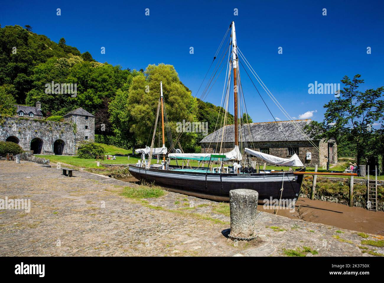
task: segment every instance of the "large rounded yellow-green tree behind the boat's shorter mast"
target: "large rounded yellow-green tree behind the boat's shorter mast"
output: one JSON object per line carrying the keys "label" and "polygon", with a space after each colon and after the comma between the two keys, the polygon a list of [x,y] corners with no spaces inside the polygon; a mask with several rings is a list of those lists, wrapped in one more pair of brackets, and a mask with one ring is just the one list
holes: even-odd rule
{"label": "large rounded yellow-green tree behind the boat's shorter mast", "polygon": [[[128,78],[132,78],[129,89],[125,86],[116,92],[109,109],[114,132],[118,135],[129,134],[132,146],[149,146],[151,143],[160,97],[160,81],[163,84],[166,117],[172,137],[178,135],[177,122],[183,119],[194,121],[197,113],[196,100],[180,82],[179,75],[172,65],[148,65],[144,74],[134,71]],[[180,144],[184,150],[194,150],[196,136],[196,133],[182,134]],[[166,145],[169,147],[170,143],[167,137]],[[156,136],[156,146],[158,144],[159,136]]]}

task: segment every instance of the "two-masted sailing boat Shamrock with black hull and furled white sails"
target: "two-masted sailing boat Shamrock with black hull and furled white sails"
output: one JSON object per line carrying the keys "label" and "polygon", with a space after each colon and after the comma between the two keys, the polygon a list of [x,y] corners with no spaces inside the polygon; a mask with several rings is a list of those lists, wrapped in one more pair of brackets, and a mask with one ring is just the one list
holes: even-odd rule
{"label": "two-masted sailing boat Shamrock with black hull and furled white sails", "polygon": [[[129,166],[129,172],[135,178],[139,180],[145,180],[147,182],[154,182],[161,186],[166,186],[170,191],[186,194],[189,196],[196,196],[199,198],[207,198],[215,201],[228,201],[229,191],[233,189],[252,189],[258,192],[259,202],[262,203],[265,200],[272,199],[289,199],[295,201],[300,193],[301,183],[303,181],[302,174],[295,174],[295,171],[273,171],[273,170],[249,170],[246,168],[243,162],[243,156],[239,148],[239,125],[240,118],[238,117],[238,82],[240,80],[238,70],[238,53],[235,23],[232,22],[227,30],[232,28],[231,33],[231,47],[232,54],[231,59],[228,60],[230,72],[233,74],[233,100],[234,100],[234,148],[232,151],[226,153],[182,153],[172,152],[168,153],[169,158],[174,159],[187,159],[202,161],[202,163],[208,161],[209,165],[217,163],[217,167],[208,166],[184,166],[170,165],[165,159],[165,153],[167,151],[164,143],[164,96],[162,94],[161,84],[161,96],[157,107],[157,118],[155,123],[155,130],[152,136],[151,147],[138,150],[138,153],[143,154],[144,162],[141,160],[136,165]],[[229,48],[229,46],[228,46]],[[229,58],[229,54],[228,54]],[[228,81],[230,81],[230,72],[228,72]],[[229,89],[229,88],[228,88]],[[228,90],[229,94],[229,90]],[[229,97],[229,95],[228,95]],[[162,141],[163,147],[154,148],[155,131],[157,127],[157,120],[159,117],[159,109],[162,112]],[[241,133],[240,133],[241,134]],[[284,166],[299,166],[296,171],[305,171],[302,162],[295,154],[290,159],[284,159],[269,154],[263,154],[262,152],[253,151],[245,147],[242,149],[244,154],[255,156],[257,158],[264,159],[268,162],[284,165]],[[155,154],[163,154],[162,164],[152,164],[151,157]],[[221,152],[221,148],[220,148]],[[145,160],[144,155],[148,154],[148,161]],[[231,166],[225,166],[225,162],[233,162]],[[183,162],[184,164],[184,162]],[[245,170],[248,169],[248,170]],[[251,168],[252,169],[252,168]]]}

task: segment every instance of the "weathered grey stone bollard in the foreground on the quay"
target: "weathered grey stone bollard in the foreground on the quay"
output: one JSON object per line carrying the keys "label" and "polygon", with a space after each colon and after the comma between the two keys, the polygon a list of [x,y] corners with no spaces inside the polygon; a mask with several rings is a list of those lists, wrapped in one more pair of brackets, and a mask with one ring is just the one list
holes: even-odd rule
{"label": "weathered grey stone bollard in the foreground on the quay", "polygon": [[256,238],[256,213],[259,194],[248,189],[229,191],[232,240],[250,241]]}

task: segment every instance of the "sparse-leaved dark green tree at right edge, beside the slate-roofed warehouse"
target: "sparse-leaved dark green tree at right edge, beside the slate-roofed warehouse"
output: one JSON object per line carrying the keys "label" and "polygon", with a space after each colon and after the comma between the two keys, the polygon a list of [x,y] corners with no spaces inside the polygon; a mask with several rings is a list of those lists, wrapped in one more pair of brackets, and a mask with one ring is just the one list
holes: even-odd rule
{"label": "sparse-leaved dark green tree at right edge, beside the slate-roofed warehouse", "polygon": [[383,117],[384,87],[359,90],[364,80],[357,74],[353,79],[344,76],[341,82],[345,85],[336,100],[324,105],[326,112],[324,121],[311,122],[307,130],[317,138],[329,139],[334,137],[338,143],[348,142],[356,151],[358,164],[363,164],[372,155],[372,139],[377,130],[372,124]]}

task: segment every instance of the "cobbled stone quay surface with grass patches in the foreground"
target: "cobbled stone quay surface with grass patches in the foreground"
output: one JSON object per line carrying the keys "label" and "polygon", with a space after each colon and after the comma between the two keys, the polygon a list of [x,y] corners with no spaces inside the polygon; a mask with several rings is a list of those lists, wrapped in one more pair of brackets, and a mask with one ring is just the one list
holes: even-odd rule
{"label": "cobbled stone quay surface with grass patches in the foreground", "polygon": [[225,237],[230,219],[219,203],[171,192],[138,201],[120,195],[135,184],[73,175],[0,161],[0,199],[31,201],[30,213],[0,210],[0,256],[285,256],[296,249],[306,256],[384,254],[384,248],[362,244],[354,231],[271,213],[257,219],[257,241],[237,245]]}

